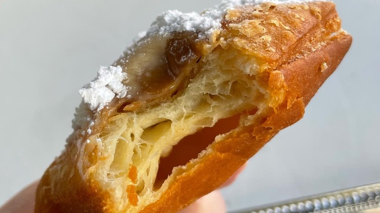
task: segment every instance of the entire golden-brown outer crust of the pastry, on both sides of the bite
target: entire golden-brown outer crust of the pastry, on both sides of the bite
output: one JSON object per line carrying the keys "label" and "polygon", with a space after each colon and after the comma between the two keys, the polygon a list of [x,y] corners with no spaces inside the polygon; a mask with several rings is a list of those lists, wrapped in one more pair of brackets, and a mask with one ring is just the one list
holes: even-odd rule
{"label": "entire golden-brown outer crust of the pastry, on both sides of the bite", "polygon": [[[273,110],[224,140],[213,142],[208,152],[187,164],[189,170],[179,168],[168,190],[143,213],[176,212],[223,184],[281,129],[303,117],[305,106],[335,71],[352,42],[350,35],[339,31],[340,19],[331,2],[241,8],[229,11],[223,26],[222,47],[230,45],[263,64],[257,78],[268,85]],[[98,159],[91,155],[91,148],[88,153],[82,150],[86,161],[80,159],[77,153],[82,147],[77,146],[77,139],[71,139],[42,177],[36,213],[116,212],[117,201],[109,192],[93,177],[83,179],[83,172],[78,171],[78,161]],[[133,167],[129,176],[135,178]],[[132,196],[130,200],[135,200]]]}

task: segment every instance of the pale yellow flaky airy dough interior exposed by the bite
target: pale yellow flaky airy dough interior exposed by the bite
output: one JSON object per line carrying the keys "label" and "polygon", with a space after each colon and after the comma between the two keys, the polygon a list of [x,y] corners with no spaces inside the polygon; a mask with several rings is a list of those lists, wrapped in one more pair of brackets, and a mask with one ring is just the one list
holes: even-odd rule
{"label": "pale yellow flaky airy dough interior exposed by the bite", "polygon": [[[108,120],[100,136],[90,138],[85,149],[96,146],[99,156],[109,156],[97,159],[95,176],[105,190],[114,191],[113,199],[121,202],[119,207],[127,204],[138,211],[167,190],[180,175],[179,169],[174,168],[166,180],[156,181],[160,158],[167,157],[181,139],[233,116],[240,117],[238,125],[245,125],[255,117],[249,111],[264,111],[268,94],[256,82],[259,65],[254,61],[232,47],[228,51],[218,47],[195,68],[201,69],[201,74],[179,97],[144,112],[119,113]],[[225,125],[237,127],[233,122]],[[215,142],[234,131],[227,129]],[[203,152],[207,149],[199,154]],[[181,168],[190,169],[186,165]]]}

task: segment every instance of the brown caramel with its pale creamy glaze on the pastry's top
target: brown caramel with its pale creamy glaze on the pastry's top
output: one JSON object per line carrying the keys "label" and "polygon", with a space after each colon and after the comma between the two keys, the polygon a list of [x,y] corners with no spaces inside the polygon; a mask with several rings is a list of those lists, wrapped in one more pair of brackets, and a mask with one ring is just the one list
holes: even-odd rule
{"label": "brown caramel with its pale creamy glaze on the pastry's top", "polygon": [[[128,95],[114,99],[101,111],[97,121],[108,119],[116,112],[142,112],[167,102],[185,89],[198,73],[202,53],[196,42],[196,32],[157,34],[143,38],[132,53],[121,56],[114,66],[128,73],[122,82],[129,87]],[[102,126],[95,124],[93,134]]]}

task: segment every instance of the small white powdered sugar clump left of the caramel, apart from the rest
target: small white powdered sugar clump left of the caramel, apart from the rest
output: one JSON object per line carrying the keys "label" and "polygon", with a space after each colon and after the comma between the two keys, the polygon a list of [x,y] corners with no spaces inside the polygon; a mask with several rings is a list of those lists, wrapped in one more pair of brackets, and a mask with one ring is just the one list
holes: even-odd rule
{"label": "small white powdered sugar clump left of the caramel, apart from the rest", "polygon": [[91,110],[100,111],[114,97],[123,98],[131,88],[122,84],[127,79],[127,73],[120,66],[100,67],[96,78],[85,88],[79,90],[84,103]]}

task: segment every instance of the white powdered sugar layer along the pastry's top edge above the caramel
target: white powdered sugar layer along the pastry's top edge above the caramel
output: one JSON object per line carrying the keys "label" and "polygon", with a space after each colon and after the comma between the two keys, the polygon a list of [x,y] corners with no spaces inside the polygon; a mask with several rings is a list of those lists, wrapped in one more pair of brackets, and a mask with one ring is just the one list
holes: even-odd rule
{"label": "white powdered sugar layer along the pastry's top edge above the caramel", "polygon": [[178,10],[170,10],[156,18],[148,30],[147,35],[152,35],[157,32],[197,31],[200,33],[200,38],[203,36],[211,38],[222,26],[220,22],[226,12],[236,6],[255,5],[264,2],[281,4],[304,3],[308,1],[314,0],[224,0],[222,4],[206,10],[202,14],[194,12],[182,13]]}

